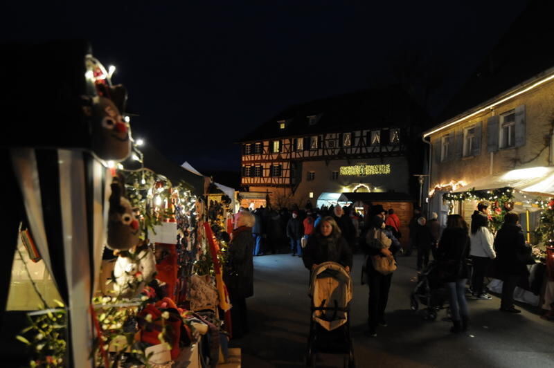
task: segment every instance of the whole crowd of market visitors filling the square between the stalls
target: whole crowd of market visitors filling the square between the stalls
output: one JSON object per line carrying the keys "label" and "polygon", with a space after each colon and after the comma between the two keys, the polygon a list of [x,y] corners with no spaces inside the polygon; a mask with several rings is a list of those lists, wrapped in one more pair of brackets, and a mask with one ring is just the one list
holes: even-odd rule
{"label": "whole crowd of market visitors filling the square between the stalls", "polygon": [[[467,330],[469,310],[466,302],[468,279],[470,293],[481,300],[490,300],[485,292],[484,279],[495,259],[497,273],[503,279],[501,311],[519,313],[514,306],[513,293],[518,279],[528,274],[524,234],[519,215],[508,212],[496,237],[488,229],[488,203],[481,202],[472,215],[471,225],[459,214],[447,217],[445,228],[438,216],[429,219],[415,208],[409,222],[409,246],[400,244],[401,223],[393,209],[382,205],[370,208],[367,218],[356,213],[352,206],[277,212],[260,207],[249,212],[241,208],[235,219],[231,241],[231,272],[229,294],[233,303],[233,326],[247,332],[245,298],[252,295],[253,256],[289,251],[303,258],[305,267],[314,270],[325,261],[341,264],[352,270],[352,255],[364,252],[363,279],[368,284],[368,330],[377,336],[377,327],[386,326],[386,305],[391,288],[397,255],[417,251],[418,272],[429,266],[430,255],[436,261],[440,282],[449,293],[453,333]],[[229,276],[228,276],[229,277]],[[234,279],[233,279],[234,277]],[[238,308],[235,309],[235,306]]]}

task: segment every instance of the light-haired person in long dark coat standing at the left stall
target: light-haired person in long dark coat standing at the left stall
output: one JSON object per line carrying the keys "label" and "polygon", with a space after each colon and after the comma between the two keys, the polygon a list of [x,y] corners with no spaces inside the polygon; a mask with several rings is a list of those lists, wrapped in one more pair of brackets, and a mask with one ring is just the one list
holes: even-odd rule
{"label": "light-haired person in long dark coat standing at the left stall", "polygon": [[240,212],[238,228],[233,230],[226,264],[225,284],[229,291],[233,338],[241,338],[248,332],[247,297],[254,295],[254,264],[252,251],[254,217],[250,212]]}

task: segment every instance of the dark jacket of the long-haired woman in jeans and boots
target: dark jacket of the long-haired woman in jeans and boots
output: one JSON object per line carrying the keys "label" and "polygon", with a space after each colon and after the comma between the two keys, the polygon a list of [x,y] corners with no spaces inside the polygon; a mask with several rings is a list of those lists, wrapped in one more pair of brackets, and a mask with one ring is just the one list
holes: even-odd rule
{"label": "dark jacket of the long-haired woman in jeans and boots", "polygon": [[459,228],[446,228],[438,242],[438,268],[455,270],[452,277],[445,277],[443,282],[456,282],[456,279],[467,279],[469,267],[465,261],[470,255],[470,237],[467,231]]}

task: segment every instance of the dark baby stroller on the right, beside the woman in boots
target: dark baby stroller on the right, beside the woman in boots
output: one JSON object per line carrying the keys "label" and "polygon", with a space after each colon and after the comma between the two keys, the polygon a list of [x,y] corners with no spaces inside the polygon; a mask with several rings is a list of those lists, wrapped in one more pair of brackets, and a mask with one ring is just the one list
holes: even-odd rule
{"label": "dark baby stroller on the right, beside the woman in boots", "polygon": [[447,307],[448,300],[448,291],[440,282],[437,264],[431,261],[418,275],[418,284],[410,295],[411,310],[417,311],[421,303],[427,306],[425,320],[436,320],[438,311]]}

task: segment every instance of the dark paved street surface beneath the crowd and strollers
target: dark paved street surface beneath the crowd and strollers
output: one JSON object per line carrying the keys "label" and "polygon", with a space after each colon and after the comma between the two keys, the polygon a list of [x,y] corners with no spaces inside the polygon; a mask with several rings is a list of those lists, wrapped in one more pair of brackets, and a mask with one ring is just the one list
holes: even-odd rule
{"label": "dark paved street surface beneath the crowd and strollers", "polygon": [[[389,295],[387,327],[377,338],[364,335],[368,286],[360,284],[362,255],[355,255],[350,317],[357,367],[554,367],[554,323],[528,304],[519,315],[498,311],[499,297],[469,300],[471,325],[449,333],[440,311],[434,322],[409,309],[415,286],[415,256],[399,257]],[[247,300],[250,333],[231,341],[242,347],[242,367],[302,367],[310,326],[308,271],[302,259],[254,257],[254,296]],[[336,356],[319,356],[318,367],[341,367]]]}

